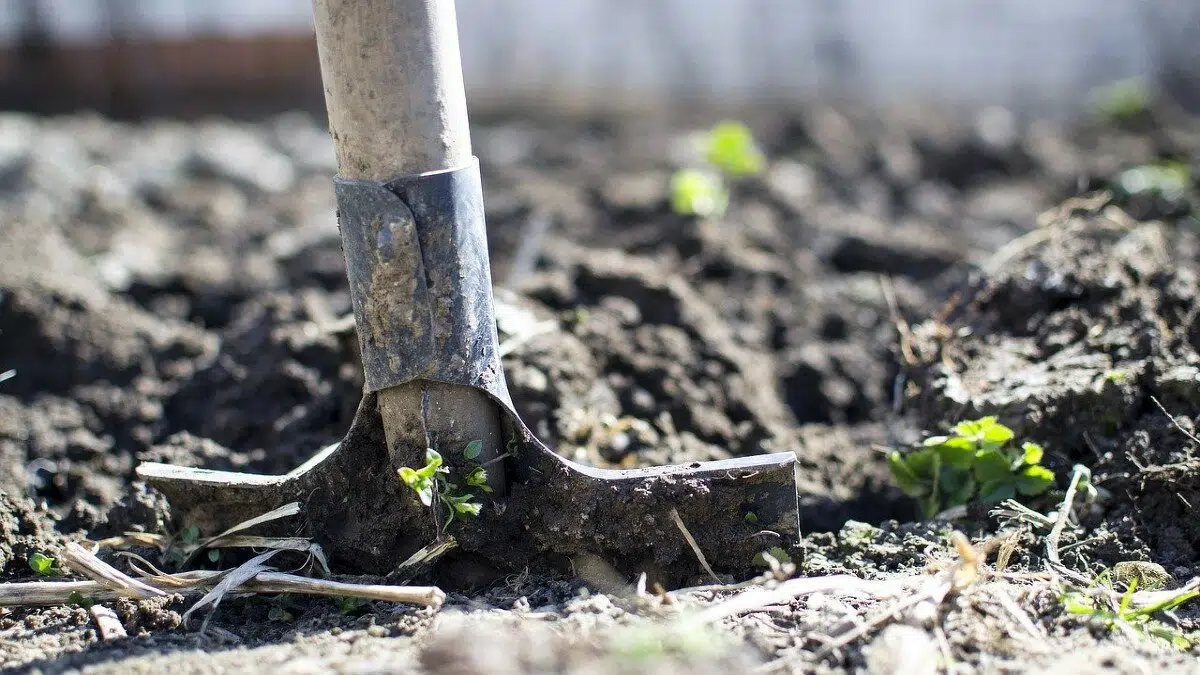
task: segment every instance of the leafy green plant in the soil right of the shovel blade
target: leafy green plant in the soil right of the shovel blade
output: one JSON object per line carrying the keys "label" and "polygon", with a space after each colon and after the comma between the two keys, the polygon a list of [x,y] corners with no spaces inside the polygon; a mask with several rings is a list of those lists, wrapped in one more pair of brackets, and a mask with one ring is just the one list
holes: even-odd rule
{"label": "leafy green plant in the soil right of the shovel blade", "polygon": [[1014,447],[1013,436],[995,417],[960,422],[949,436],[929,437],[908,453],[893,450],[888,465],[900,490],[918,500],[925,518],[977,497],[998,503],[1045,492],[1055,477],[1042,466],[1042,446]]}

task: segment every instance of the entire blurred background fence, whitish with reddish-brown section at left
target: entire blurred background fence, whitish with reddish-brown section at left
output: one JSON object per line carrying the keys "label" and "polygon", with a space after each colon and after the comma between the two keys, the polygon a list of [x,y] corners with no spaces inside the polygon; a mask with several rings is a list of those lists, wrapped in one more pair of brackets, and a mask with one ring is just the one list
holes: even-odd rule
{"label": "entire blurred background fence, whitish with reddish-brown section at left", "polygon": [[[458,0],[472,104],[1200,100],[1200,0]],[[0,0],[0,107],[319,109],[308,0]]]}

